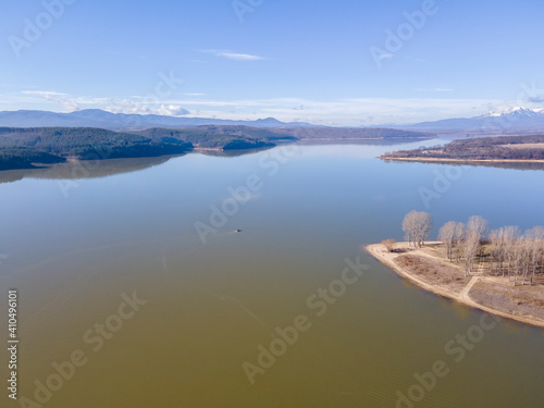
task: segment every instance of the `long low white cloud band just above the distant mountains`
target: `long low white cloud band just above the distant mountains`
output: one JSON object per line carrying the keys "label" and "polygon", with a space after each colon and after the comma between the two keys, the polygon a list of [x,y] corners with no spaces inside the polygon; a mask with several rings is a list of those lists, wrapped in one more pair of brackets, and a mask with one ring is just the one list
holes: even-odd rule
{"label": "long low white cloud band just above the distant mountains", "polygon": [[[18,97],[17,97],[18,95]],[[454,99],[440,94],[422,98],[345,98],[316,100],[305,98],[269,99],[212,99],[168,98],[152,103],[144,97],[99,98],[74,97],[55,91],[25,91],[12,95],[13,103],[32,109],[55,110],[50,103],[64,110],[103,109],[115,113],[161,114],[171,116],[199,116],[230,120],[257,120],[276,118],[284,122],[310,122],[321,125],[376,125],[384,123],[416,123],[447,118],[469,118],[487,113],[490,107],[500,104],[493,99]],[[422,94],[424,95],[424,94]],[[1,96],[1,95],[0,95]],[[440,96],[440,97],[438,97]],[[47,103],[44,101],[47,100]],[[0,101],[1,103],[1,101]],[[1,103],[3,106],[3,103]]]}

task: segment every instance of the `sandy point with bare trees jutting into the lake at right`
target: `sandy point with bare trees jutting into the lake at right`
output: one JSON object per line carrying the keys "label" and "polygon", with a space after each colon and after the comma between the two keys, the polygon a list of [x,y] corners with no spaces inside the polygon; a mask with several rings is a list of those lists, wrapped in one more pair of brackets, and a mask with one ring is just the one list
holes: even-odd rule
{"label": "sandy point with bare trees jutting into the lake at right", "polygon": [[446,223],[440,240],[425,242],[429,220],[412,211],[403,223],[407,242],[386,239],[366,249],[425,290],[544,327],[544,227],[526,234],[514,226],[487,231],[484,219],[472,217],[467,224]]}

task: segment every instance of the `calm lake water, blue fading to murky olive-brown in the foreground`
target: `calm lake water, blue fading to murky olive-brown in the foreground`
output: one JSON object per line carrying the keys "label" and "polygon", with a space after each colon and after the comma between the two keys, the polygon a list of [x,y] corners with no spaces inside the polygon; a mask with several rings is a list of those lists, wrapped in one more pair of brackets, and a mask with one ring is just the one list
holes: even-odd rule
{"label": "calm lake water, blue fading to murky olive-brown in the foreground", "polygon": [[[437,226],[472,214],[492,227],[544,225],[544,173],[374,159],[391,149],[3,172],[0,300],[5,310],[8,288],[18,289],[18,396],[60,408],[411,406],[401,393],[417,407],[542,407],[543,331],[502,320],[460,358],[446,345],[483,314],[407,284],[360,248],[401,239],[412,209]],[[455,180],[426,209],[419,190],[433,190],[436,172]],[[250,194],[233,205],[228,188],[248,177]],[[203,243],[195,223],[224,206]],[[358,257],[369,269],[318,307],[318,289]],[[147,302],[120,309],[134,292]],[[307,330],[282,348],[276,327],[299,316]],[[0,327],[7,337],[4,311]],[[271,342],[275,361],[248,375],[243,364],[255,369]],[[63,363],[74,351],[82,367],[72,370]],[[437,361],[447,374],[413,387]],[[2,407],[20,406],[3,393]]]}

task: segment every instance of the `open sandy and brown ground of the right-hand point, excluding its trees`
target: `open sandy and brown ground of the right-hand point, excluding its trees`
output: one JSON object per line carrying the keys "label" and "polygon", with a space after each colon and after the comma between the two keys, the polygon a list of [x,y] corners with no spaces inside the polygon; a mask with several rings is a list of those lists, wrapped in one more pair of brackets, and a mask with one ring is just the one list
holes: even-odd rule
{"label": "open sandy and brown ground of the right-hand point, excluding its trees", "polygon": [[[502,318],[544,327],[542,285],[514,287],[508,283],[508,279],[486,275],[484,271],[478,271],[466,277],[460,265],[449,262],[440,255],[440,248],[438,242],[426,243],[423,248],[410,247],[408,243],[397,243],[394,252],[387,251],[383,244],[366,247],[367,251],[384,265],[425,290]],[[423,271],[426,270],[426,274],[415,273],[406,267],[406,256],[410,257],[412,267],[413,262],[420,263],[416,268],[422,267]],[[401,261],[405,264],[401,264]],[[516,301],[517,295],[524,296],[523,301]]]}

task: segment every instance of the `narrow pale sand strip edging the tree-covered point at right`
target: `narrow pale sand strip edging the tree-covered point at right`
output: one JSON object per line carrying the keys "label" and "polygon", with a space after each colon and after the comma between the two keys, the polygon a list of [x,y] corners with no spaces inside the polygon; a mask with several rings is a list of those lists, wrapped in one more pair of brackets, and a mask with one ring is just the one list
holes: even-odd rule
{"label": "narrow pale sand strip edging the tree-covered point at right", "polygon": [[[435,243],[428,243],[428,244],[436,244],[436,242]],[[397,246],[408,247],[408,243],[397,243]],[[422,289],[425,289],[425,290],[433,293],[435,295],[455,300],[459,304],[469,306],[471,308],[480,309],[480,310],[485,311],[487,313],[498,316],[500,318],[506,318],[506,319],[515,320],[515,321],[520,322],[520,323],[530,324],[533,326],[544,329],[544,321],[543,320],[531,319],[531,318],[526,318],[526,317],[521,317],[521,316],[517,316],[517,314],[507,313],[507,312],[504,312],[502,310],[494,309],[492,307],[482,305],[482,304],[475,301],[474,299],[472,299],[472,297],[470,296],[470,290],[478,282],[484,281],[485,277],[482,277],[480,275],[472,275],[469,283],[463,287],[463,289],[459,294],[455,294],[452,290],[447,290],[444,287],[438,287],[438,286],[433,285],[429,282],[425,282],[424,280],[416,276],[413,273],[408,271],[406,268],[403,268],[401,265],[399,265],[398,262],[395,262],[395,258],[397,258],[399,255],[394,254],[394,252],[388,252],[382,244],[367,245],[367,246],[364,246],[364,249],[372,257],[374,257],[376,260],[379,260],[382,264],[384,264],[385,267],[390,268],[395,273],[397,273],[400,277],[404,277],[404,279],[410,281],[416,286],[418,286]],[[411,252],[411,255],[417,256],[417,257],[429,258],[429,259],[433,258],[434,261],[438,261],[437,258],[432,257],[428,254],[424,254],[423,251],[421,251],[420,249],[417,249],[417,248],[415,248],[415,250]],[[448,262],[442,262],[442,263],[448,264]]]}

